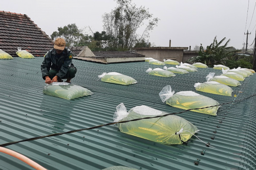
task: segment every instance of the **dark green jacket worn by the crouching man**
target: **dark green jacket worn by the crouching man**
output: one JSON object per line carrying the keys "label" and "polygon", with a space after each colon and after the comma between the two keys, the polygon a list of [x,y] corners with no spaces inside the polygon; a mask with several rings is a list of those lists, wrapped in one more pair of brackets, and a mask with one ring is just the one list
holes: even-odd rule
{"label": "dark green jacket worn by the crouching man", "polygon": [[46,76],[49,76],[49,70],[53,69],[58,71],[56,76],[60,79],[64,79],[67,75],[68,69],[74,67],[72,63],[73,54],[69,48],[65,47],[61,56],[56,57],[56,50],[53,48],[45,55],[45,60],[41,64],[42,78],[45,80]]}

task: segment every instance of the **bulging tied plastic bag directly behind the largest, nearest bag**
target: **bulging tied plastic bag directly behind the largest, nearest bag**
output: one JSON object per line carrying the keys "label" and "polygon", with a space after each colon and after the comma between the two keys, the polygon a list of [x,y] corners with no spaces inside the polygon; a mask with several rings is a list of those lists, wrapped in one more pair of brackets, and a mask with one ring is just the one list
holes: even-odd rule
{"label": "bulging tied plastic bag directly behind the largest, nearest bag", "polygon": [[170,85],[167,85],[159,93],[159,96],[162,102],[165,102],[167,105],[184,110],[214,106],[191,111],[210,115],[217,115],[217,111],[220,106],[216,106],[219,105],[219,103],[216,100],[198,94],[194,91],[180,91],[176,94],[174,93],[175,91],[172,91]]}

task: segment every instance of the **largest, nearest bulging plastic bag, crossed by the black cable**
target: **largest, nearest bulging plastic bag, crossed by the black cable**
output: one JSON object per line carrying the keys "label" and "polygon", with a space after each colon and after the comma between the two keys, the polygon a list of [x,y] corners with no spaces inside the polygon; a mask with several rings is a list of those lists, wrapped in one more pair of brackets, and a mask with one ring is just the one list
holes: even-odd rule
{"label": "largest, nearest bulging plastic bag, crossed by the black cable", "polygon": [[[114,122],[167,114],[144,105],[136,106],[127,112],[123,103],[118,105],[116,110]],[[182,144],[199,131],[195,125],[176,115],[141,119],[120,123],[117,126],[122,133],[162,144]]]}

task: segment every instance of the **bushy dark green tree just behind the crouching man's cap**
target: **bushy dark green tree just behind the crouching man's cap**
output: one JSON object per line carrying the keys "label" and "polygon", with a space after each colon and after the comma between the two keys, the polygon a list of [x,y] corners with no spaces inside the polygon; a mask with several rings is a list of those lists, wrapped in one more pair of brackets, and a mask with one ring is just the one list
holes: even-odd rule
{"label": "bushy dark green tree just behind the crouching man's cap", "polygon": [[64,38],[66,46],[84,46],[90,44],[90,37],[82,33],[83,30],[79,30],[75,23],[68,26],[58,27],[58,31],[54,31],[51,35],[52,40],[57,37]]}

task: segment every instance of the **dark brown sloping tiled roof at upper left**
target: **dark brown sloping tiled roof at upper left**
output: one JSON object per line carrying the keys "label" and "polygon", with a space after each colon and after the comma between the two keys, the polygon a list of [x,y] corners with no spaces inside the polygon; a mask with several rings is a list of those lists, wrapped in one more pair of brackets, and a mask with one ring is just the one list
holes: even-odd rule
{"label": "dark brown sloping tiled roof at upper left", "polygon": [[0,49],[17,57],[17,47],[41,57],[53,42],[26,14],[0,11]]}

